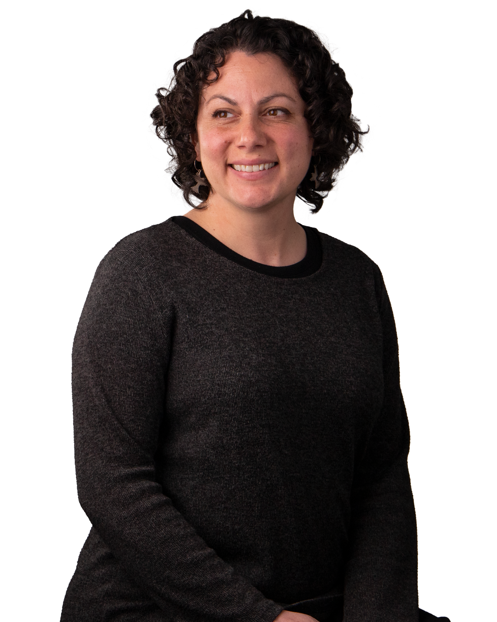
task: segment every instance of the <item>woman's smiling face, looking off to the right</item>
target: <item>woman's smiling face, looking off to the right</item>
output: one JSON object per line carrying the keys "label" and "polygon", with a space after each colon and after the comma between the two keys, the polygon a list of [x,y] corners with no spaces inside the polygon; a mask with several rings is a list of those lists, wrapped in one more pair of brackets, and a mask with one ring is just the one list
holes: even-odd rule
{"label": "woman's smiling face, looking off to the right", "polygon": [[232,52],[219,73],[203,90],[193,136],[212,199],[250,210],[293,205],[313,142],[296,81],[273,54]]}

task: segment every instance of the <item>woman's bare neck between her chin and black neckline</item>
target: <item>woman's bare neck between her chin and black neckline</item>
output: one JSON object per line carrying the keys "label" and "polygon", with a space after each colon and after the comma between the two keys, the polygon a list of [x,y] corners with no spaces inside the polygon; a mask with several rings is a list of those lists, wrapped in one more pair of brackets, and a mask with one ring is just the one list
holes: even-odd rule
{"label": "woman's bare neck between her chin and black neckline", "polygon": [[222,244],[267,266],[290,266],[304,259],[306,233],[293,215],[294,197],[271,207],[243,208],[211,200],[203,210],[189,210],[190,218]]}

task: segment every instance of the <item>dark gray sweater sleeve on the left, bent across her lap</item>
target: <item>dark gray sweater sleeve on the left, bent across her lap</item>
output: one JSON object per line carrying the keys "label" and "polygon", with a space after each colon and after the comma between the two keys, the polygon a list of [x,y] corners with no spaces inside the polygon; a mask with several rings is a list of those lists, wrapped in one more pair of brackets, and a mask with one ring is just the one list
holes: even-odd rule
{"label": "dark gray sweater sleeve on the left, bent across her lap", "polygon": [[174,308],[157,302],[122,246],[98,267],[73,346],[80,503],[165,620],[271,622],[282,607],[224,562],[157,483]]}

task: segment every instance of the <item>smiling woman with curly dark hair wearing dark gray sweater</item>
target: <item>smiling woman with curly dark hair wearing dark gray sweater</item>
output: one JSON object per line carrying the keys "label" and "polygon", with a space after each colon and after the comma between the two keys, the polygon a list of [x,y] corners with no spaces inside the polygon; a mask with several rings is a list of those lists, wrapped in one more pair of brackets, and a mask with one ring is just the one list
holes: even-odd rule
{"label": "smiling woman with curly dark hair wearing dark gray sweater", "polygon": [[352,90],[311,30],[250,11],[174,70],[152,119],[192,209],[117,244],[81,314],[93,529],[62,620],[417,621],[385,284],[293,216],[361,148]]}

